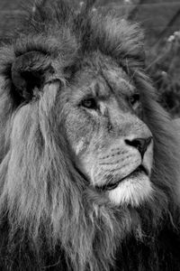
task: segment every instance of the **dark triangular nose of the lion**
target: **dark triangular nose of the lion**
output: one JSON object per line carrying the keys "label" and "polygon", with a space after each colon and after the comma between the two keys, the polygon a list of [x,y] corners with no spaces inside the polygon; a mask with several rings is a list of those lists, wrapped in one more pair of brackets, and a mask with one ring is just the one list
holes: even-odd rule
{"label": "dark triangular nose of the lion", "polygon": [[143,156],[146,153],[148,149],[148,145],[150,144],[151,140],[152,140],[152,136],[149,136],[147,138],[134,138],[132,140],[125,139],[125,143],[127,145],[131,145],[137,148],[143,159]]}

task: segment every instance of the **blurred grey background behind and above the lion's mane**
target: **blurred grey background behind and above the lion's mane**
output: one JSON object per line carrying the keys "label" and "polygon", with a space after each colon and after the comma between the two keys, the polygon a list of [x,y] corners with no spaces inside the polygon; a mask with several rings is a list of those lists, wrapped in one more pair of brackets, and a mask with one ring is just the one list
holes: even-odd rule
{"label": "blurred grey background behind and above the lion's mane", "polygon": [[[52,1],[52,0],[49,0]],[[69,0],[78,8],[83,1]],[[25,0],[0,0],[0,43],[23,15]],[[97,0],[97,9],[139,22],[145,31],[147,71],[157,89],[158,101],[172,117],[180,117],[180,0]]]}

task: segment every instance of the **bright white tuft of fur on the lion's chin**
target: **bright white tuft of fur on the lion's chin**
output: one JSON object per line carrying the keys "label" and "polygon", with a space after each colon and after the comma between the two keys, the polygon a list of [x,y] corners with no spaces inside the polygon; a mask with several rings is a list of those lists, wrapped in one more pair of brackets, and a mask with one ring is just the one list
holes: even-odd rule
{"label": "bright white tuft of fur on the lion's chin", "polygon": [[131,177],[120,182],[118,187],[108,192],[108,196],[115,205],[130,204],[135,207],[148,200],[152,191],[148,176],[141,173],[138,178]]}

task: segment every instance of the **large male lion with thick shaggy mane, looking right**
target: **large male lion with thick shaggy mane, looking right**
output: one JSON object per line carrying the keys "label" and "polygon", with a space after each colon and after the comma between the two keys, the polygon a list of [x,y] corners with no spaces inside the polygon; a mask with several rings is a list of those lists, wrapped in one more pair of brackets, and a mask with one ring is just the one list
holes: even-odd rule
{"label": "large male lion with thick shaggy mane, looking right", "polygon": [[180,144],[139,24],[43,4],[0,51],[0,269],[180,270]]}

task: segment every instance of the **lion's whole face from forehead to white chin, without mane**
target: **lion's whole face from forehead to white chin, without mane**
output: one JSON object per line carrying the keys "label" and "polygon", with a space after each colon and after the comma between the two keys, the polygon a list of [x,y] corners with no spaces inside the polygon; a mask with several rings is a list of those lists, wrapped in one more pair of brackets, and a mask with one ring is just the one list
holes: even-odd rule
{"label": "lion's whole face from forehead to white chin, without mane", "polygon": [[114,204],[139,205],[151,192],[153,140],[139,89],[110,59],[85,61],[67,93],[67,140],[76,167]]}

